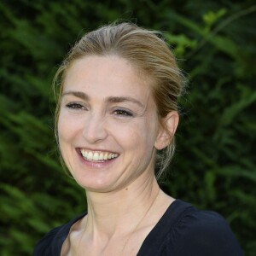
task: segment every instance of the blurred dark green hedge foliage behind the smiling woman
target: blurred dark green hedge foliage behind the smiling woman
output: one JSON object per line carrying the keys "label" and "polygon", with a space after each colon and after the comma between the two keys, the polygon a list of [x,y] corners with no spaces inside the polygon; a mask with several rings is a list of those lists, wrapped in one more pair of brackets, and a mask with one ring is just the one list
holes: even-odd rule
{"label": "blurred dark green hedge foliage behind the smiling woman", "polygon": [[0,254],[32,255],[46,232],[86,210],[63,172],[51,81],[84,32],[131,20],[164,32],[188,77],[177,152],[161,187],[221,213],[256,252],[255,1],[0,2]]}

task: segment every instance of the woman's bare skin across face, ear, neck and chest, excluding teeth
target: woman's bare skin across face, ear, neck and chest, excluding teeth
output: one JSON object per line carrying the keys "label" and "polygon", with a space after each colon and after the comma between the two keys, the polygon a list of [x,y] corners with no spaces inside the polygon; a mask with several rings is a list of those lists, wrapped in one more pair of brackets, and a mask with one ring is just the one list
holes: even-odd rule
{"label": "woman's bare skin across face, ear, neck and chest, excluding teeth", "polygon": [[[59,143],[68,169],[86,191],[88,215],[73,225],[61,255],[135,255],[172,203],[159,193],[154,154],[170,143],[178,115],[169,113],[168,131],[163,129],[150,82],[116,55],[84,57],[67,71]],[[117,157],[86,160],[81,149]]]}

